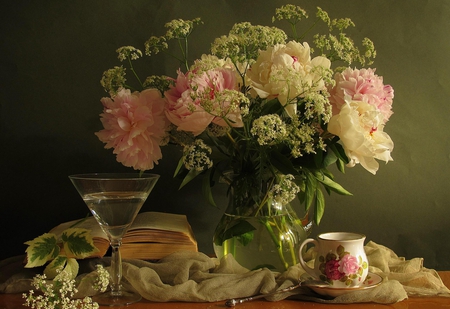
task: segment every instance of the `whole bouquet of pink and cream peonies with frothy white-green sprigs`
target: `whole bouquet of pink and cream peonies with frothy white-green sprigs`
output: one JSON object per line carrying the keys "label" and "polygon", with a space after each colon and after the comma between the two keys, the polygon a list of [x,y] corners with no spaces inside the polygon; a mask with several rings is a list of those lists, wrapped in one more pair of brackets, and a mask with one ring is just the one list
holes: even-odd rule
{"label": "whole bouquet of pink and cream peonies with frothy white-green sprigs", "polygon": [[[350,195],[334,181],[328,167],[361,164],[375,174],[377,160],[391,161],[393,142],[384,132],[392,114],[394,92],[371,65],[371,40],[361,44],[347,35],[348,18],[331,19],[317,8],[312,25],[305,10],[278,8],[272,22],[285,21],[291,36],[278,27],[235,24],[216,38],[208,54],[188,58],[188,38],[202,22],[173,20],[165,35],[145,42],[148,56],[180,47],[172,54],[180,69],[172,77],[142,79],[134,63],[143,57],[132,46],[117,50],[137,86],[126,79],[124,65],[104,72],[101,84],[109,97],[97,132],[117,161],[135,170],[152,169],[161,147],[183,147],[176,169],[181,186],[204,176],[203,192],[214,203],[211,186],[225,179],[233,188],[240,214],[267,212],[267,202],[287,203],[298,197],[314,205],[318,224],[324,212],[323,192]],[[328,31],[305,36],[318,23]]]}

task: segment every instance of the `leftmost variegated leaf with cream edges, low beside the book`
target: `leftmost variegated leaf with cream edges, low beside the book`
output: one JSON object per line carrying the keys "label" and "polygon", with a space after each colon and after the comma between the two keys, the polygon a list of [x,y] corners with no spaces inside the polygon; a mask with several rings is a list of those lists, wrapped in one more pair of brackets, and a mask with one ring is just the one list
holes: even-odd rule
{"label": "leftmost variegated leaf with cream edges, low beside the book", "polygon": [[28,245],[25,251],[27,253],[27,264],[25,267],[27,268],[42,266],[59,254],[55,234],[45,233],[33,240],[27,241],[25,244]]}

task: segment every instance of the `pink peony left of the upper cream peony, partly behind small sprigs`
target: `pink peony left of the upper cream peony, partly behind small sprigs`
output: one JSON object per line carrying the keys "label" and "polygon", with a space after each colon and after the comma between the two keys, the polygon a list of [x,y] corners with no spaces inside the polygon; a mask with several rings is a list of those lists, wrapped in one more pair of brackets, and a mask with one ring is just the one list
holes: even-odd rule
{"label": "pink peony left of the upper cream peony, partly behind small sprigs", "polygon": [[[178,71],[175,86],[165,92],[167,118],[178,130],[201,134],[209,124],[226,126],[219,115],[226,115],[233,126],[242,126],[238,111],[229,111],[229,102],[215,102],[224,90],[236,88],[235,74],[230,69],[212,69],[202,73]],[[203,104],[210,110],[206,111]]]}

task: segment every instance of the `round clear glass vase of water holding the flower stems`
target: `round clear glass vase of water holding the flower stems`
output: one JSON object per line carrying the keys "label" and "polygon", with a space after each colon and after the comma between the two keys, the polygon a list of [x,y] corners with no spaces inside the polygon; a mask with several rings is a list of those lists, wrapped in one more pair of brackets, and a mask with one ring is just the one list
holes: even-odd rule
{"label": "round clear glass vase of water holding the flower stems", "polygon": [[[230,187],[228,207],[214,232],[216,256],[232,254],[249,270],[267,267],[283,272],[296,265],[298,249],[308,235],[304,228],[307,222],[302,223],[290,203],[261,197],[267,202],[259,205],[258,211],[244,207],[250,196],[251,200],[255,197],[254,192],[242,192],[243,187]],[[261,194],[266,195],[267,191],[261,190]]]}

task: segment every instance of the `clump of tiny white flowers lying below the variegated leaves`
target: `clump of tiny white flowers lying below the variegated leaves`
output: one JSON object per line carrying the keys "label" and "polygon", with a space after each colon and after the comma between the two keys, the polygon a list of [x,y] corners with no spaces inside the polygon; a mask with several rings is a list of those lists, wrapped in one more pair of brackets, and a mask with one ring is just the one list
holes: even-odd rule
{"label": "clump of tiny white flowers lying below the variegated leaves", "polygon": [[25,306],[35,309],[98,309],[99,305],[93,302],[90,297],[83,299],[73,299],[77,289],[75,280],[70,274],[62,271],[58,274],[58,279],[53,282],[47,281],[45,275],[36,275],[32,285],[37,291],[43,294],[35,295],[33,290],[29,294],[23,294]]}

